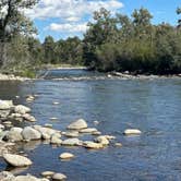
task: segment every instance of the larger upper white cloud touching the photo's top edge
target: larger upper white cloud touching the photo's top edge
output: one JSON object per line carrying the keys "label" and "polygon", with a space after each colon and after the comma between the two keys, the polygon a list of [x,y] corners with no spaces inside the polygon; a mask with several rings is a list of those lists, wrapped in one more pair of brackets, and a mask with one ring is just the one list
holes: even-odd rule
{"label": "larger upper white cloud touching the photo's top edge", "polygon": [[119,0],[40,0],[33,9],[25,13],[32,19],[58,17],[64,21],[79,21],[83,15],[106,8],[116,11],[123,7]]}

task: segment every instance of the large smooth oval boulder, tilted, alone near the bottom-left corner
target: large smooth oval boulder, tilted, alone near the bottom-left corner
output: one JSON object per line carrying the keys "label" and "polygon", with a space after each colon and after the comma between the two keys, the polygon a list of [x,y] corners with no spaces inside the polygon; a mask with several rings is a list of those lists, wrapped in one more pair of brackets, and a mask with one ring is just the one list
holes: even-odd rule
{"label": "large smooth oval boulder, tilted, alone near the bottom-left corner", "polygon": [[13,167],[26,167],[33,164],[28,158],[13,154],[3,154],[3,159]]}

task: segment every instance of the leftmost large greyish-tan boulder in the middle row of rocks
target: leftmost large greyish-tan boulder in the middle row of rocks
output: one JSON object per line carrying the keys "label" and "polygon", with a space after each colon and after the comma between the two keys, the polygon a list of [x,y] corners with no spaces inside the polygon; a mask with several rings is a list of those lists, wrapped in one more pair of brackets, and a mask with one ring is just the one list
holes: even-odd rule
{"label": "leftmost large greyish-tan boulder in the middle row of rocks", "polygon": [[13,141],[13,142],[21,142],[23,141],[23,136],[22,136],[22,130],[21,128],[12,128],[8,134],[4,136],[4,140],[8,141]]}

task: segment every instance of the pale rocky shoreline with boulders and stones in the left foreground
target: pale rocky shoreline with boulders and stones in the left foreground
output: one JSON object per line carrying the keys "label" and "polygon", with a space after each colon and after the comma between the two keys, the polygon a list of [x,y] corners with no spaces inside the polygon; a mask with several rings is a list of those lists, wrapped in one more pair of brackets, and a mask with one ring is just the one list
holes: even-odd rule
{"label": "pale rocky shoreline with boulders and stones in the left foreground", "polygon": [[[32,96],[34,97],[34,96]],[[29,96],[27,98],[31,98]],[[35,97],[34,97],[35,98]],[[27,100],[27,99],[26,99]],[[33,100],[33,99],[32,99]],[[24,168],[34,165],[27,158],[27,155],[16,150],[15,146],[19,143],[26,144],[32,141],[46,141],[52,146],[76,146],[86,149],[102,149],[110,145],[121,147],[122,144],[117,141],[113,135],[102,135],[96,128],[89,128],[84,119],[79,119],[69,124],[64,131],[55,130],[50,124],[35,124],[36,119],[31,114],[31,108],[23,105],[14,105],[12,100],[0,100],[0,157],[14,168]],[[31,125],[24,128],[14,126],[14,122],[28,121]],[[99,122],[94,122],[97,125]],[[92,135],[93,140],[82,141],[80,137]],[[125,130],[123,134],[140,135],[140,130]],[[72,149],[70,149],[72,152]],[[73,153],[60,153],[60,161],[63,159],[76,159]],[[14,176],[11,172],[0,172],[1,181],[48,181],[48,180],[65,180],[63,173],[53,172],[53,170],[45,170],[39,173],[41,178],[34,176]]]}

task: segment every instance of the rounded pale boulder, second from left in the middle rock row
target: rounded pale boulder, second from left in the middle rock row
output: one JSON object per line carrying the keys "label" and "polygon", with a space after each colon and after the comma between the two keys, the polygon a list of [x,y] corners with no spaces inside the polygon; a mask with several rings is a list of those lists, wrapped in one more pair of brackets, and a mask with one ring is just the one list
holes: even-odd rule
{"label": "rounded pale boulder, second from left in the middle rock row", "polygon": [[41,138],[40,132],[38,132],[37,130],[35,130],[31,126],[25,126],[22,132],[22,135],[23,135],[24,140],[29,140],[29,141]]}

